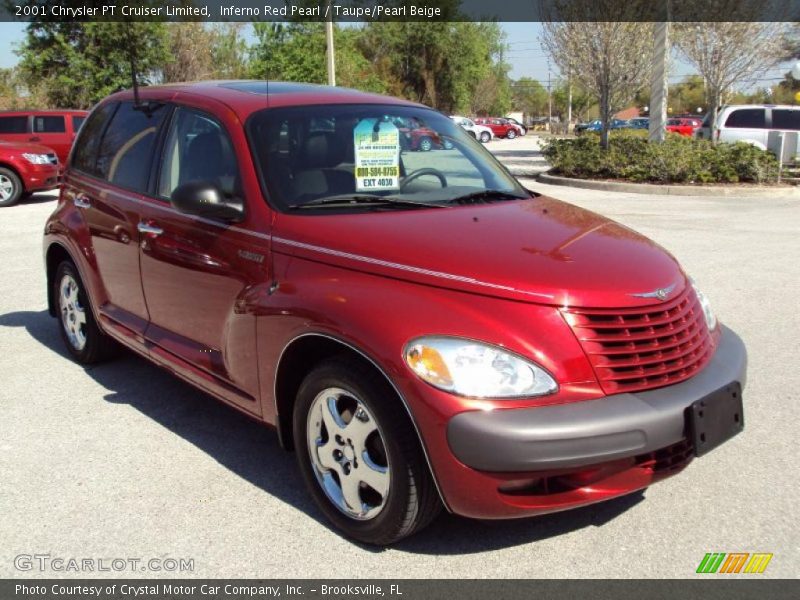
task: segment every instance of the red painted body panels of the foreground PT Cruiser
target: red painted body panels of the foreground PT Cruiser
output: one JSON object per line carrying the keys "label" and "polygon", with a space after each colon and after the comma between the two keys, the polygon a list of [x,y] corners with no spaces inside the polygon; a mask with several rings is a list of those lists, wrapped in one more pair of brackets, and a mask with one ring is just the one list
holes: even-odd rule
{"label": "red painted body panels of the foreground PT Cruiser", "polygon": [[[284,442],[291,436],[293,398],[284,392],[282,357],[303,341],[357,351],[404,399],[445,506],[470,517],[535,515],[617,497],[691,460],[681,441],[580,468],[488,472],[464,464],[448,440],[448,424],[458,415],[585,407],[607,397],[588,348],[570,327],[571,309],[658,310],[652,294],[641,292],[665,282],[673,282],[675,294],[694,298],[675,259],[658,245],[538,195],[448,210],[313,218],[281,212],[265,198],[243,128],[265,109],[263,95],[213,83],[140,93],[143,102],[194,107],[224,126],[247,210],[243,221],[222,225],[67,169],[46,225],[48,276],[70,256],[100,326],[123,345],[276,427]],[[105,102],[130,99],[123,92]],[[268,110],[353,103],[415,106],[298,87],[270,95]],[[76,207],[76,200],[91,208]],[[141,224],[162,232],[140,234]],[[49,304],[54,311],[52,294]],[[531,357],[558,390],[500,401],[436,389],[411,371],[402,351],[432,333]],[[720,343],[718,330],[697,336],[712,352]],[[697,368],[709,359],[697,357]],[[679,373],[676,380],[690,375]],[[650,387],[658,385],[644,385]]]}

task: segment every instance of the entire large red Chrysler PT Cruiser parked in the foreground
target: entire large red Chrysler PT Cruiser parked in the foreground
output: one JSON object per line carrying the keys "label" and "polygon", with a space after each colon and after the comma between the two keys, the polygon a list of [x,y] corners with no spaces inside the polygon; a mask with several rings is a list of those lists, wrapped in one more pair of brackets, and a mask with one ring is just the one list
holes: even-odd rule
{"label": "entire large red Chrysler PT Cruiser parked in the foreground", "polygon": [[[451,150],[404,149],[411,118]],[[271,425],[370,543],[441,507],[628,494],[743,426],[744,346],[672,256],[526,190],[419,104],[272,82],[113,95],[44,255],[76,360],[121,345]]]}

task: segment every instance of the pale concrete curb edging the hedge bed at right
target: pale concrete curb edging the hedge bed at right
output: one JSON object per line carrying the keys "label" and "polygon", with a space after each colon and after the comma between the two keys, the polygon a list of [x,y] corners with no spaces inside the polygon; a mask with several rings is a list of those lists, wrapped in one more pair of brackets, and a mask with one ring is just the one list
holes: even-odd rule
{"label": "pale concrete curb edging the hedge bed at right", "polygon": [[591,179],[573,179],[541,173],[536,180],[548,185],[563,185],[585,190],[602,190],[607,192],[627,192],[631,194],[650,194],[654,196],[748,196],[756,198],[790,198],[800,197],[798,187],[769,186],[714,186],[714,185],[653,185],[651,183],[617,183],[615,181],[593,181]]}

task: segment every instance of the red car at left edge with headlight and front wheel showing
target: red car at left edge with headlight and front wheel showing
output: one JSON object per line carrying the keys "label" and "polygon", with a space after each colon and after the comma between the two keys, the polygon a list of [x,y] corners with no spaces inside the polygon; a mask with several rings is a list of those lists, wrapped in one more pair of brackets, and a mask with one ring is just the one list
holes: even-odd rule
{"label": "red car at left edge with headlight and front wheel showing", "polygon": [[0,141],[0,206],[58,186],[58,158],[50,148]]}

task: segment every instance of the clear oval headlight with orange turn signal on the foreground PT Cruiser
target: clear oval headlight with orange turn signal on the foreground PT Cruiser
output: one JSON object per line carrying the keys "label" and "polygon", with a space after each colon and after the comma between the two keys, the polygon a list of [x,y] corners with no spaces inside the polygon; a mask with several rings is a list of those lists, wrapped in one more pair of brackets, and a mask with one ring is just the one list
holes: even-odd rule
{"label": "clear oval headlight with orange turn signal on the foreground PT Cruiser", "polygon": [[446,392],[475,398],[519,398],[558,389],[541,367],[502,348],[451,337],[424,337],[406,346],[417,376]]}

